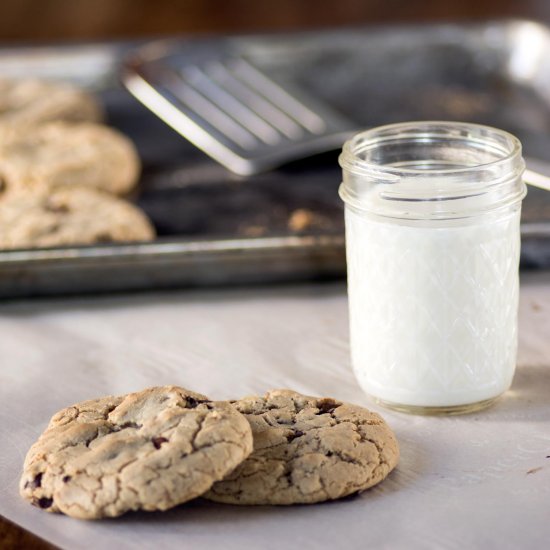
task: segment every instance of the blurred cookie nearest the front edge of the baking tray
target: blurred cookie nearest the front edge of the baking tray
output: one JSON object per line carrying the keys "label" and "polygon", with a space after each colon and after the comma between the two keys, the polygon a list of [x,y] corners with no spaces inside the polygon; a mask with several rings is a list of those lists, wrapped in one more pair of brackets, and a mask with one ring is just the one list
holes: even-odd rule
{"label": "blurred cookie nearest the front edge of the baking tray", "polygon": [[94,189],[45,189],[0,198],[0,249],[149,241],[154,236],[139,208]]}

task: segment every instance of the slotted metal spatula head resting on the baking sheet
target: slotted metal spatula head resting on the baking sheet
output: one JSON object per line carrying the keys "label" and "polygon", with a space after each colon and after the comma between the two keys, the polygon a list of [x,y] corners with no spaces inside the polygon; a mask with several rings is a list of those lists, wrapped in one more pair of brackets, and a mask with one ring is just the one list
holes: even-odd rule
{"label": "slotted metal spatula head resting on the baking sheet", "polygon": [[134,59],[124,83],[187,140],[241,175],[339,148],[355,131],[327,105],[290,92],[238,57],[181,64]]}

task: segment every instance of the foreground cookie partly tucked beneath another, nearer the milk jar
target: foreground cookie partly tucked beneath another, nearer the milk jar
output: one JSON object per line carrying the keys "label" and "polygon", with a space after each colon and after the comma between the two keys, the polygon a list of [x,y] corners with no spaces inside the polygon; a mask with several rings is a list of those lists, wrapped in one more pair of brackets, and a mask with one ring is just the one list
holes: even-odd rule
{"label": "foreground cookie partly tucked beneath another, nearer the milk jar", "polygon": [[337,499],[382,481],[399,458],[376,413],[334,399],[276,390],[233,402],[252,428],[254,451],[205,498],[230,504]]}

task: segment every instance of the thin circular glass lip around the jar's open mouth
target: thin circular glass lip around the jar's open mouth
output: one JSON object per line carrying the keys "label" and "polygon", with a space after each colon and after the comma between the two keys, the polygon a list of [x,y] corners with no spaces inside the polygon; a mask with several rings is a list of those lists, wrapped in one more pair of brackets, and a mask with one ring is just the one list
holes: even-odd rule
{"label": "thin circular glass lip around the jar's open mouth", "polygon": [[[453,168],[438,168],[438,169],[425,169],[425,168],[410,168],[410,167],[396,167],[391,165],[378,164],[369,162],[365,159],[358,157],[361,151],[364,151],[366,147],[360,147],[359,143],[363,142],[371,144],[383,144],[390,140],[405,140],[412,138],[435,138],[444,137],[443,132],[449,131],[462,131],[463,138],[467,138],[472,143],[484,145],[487,147],[489,141],[493,140],[493,149],[495,151],[500,150],[502,156],[489,162],[483,162],[479,164],[473,164],[463,167]],[[477,135],[474,133],[477,132]],[[468,135],[470,134],[470,135]],[[486,136],[486,139],[482,139],[482,136]],[[504,148],[496,147],[496,141],[500,138],[503,143],[508,144],[508,150]],[[461,175],[473,170],[483,170],[485,168],[496,168],[499,165],[513,162],[514,159],[521,159],[521,142],[513,134],[486,126],[483,124],[474,124],[469,122],[454,122],[454,121],[441,121],[441,120],[428,120],[428,121],[411,121],[411,122],[397,122],[393,124],[386,124],[384,126],[377,126],[370,128],[363,132],[354,135],[347,140],[343,147],[342,153],[338,160],[342,168],[351,171],[355,174],[367,174],[377,173],[379,175],[387,174],[391,176],[452,176],[454,174]]]}

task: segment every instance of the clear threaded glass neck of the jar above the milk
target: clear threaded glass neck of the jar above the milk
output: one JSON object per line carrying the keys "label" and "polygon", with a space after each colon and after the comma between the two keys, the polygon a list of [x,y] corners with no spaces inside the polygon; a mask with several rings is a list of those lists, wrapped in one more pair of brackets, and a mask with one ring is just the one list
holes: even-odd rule
{"label": "clear threaded glass neck of the jar above the milk", "polygon": [[344,202],[385,217],[472,217],[515,204],[526,193],[520,141],[481,124],[379,126],[349,139],[339,162]]}

